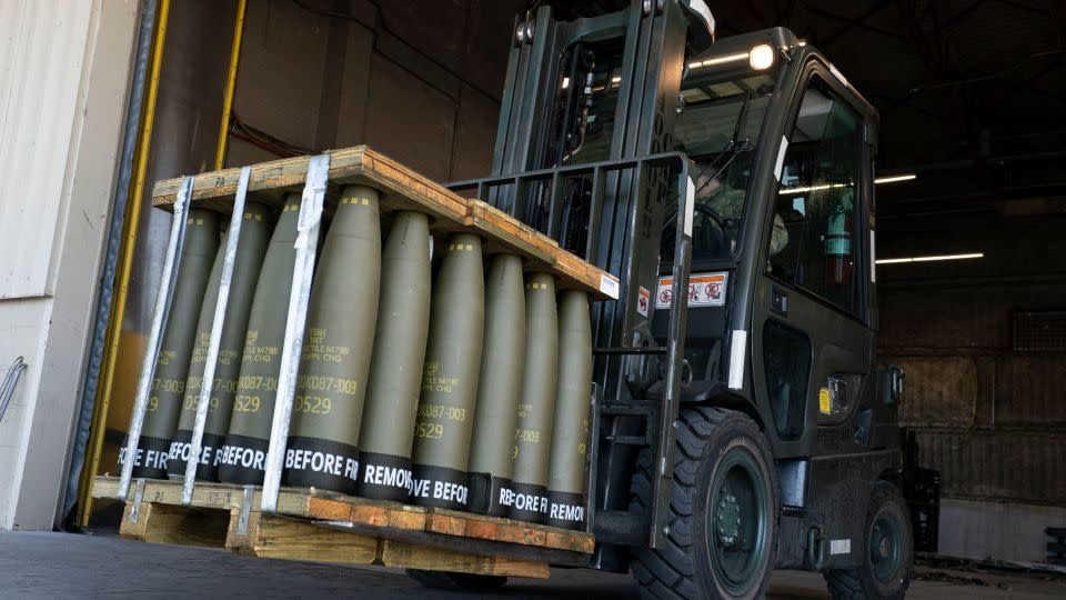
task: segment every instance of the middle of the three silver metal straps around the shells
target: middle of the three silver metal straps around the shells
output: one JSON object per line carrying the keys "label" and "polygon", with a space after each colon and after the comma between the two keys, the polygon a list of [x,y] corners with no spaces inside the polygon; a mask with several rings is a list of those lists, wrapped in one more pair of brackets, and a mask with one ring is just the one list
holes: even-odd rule
{"label": "middle of the three silver metal straps around the shells", "polygon": [[[237,261],[237,246],[241,239],[244,199],[248,196],[248,179],[251,174],[251,167],[241,169],[241,178],[237,183],[237,197],[233,198],[233,216],[230,217],[230,231],[225,238],[222,280],[219,283],[219,297],[214,307],[214,319],[211,321],[211,338],[208,341],[208,356],[203,362],[203,378],[200,381],[200,398],[197,403],[197,422],[192,428],[192,439],[189,441],[189,459],[185,462],[184,480],[181,486],[181,503],[187,507],[192,503],[192,488],[195,486],[197,468],[200,464],[200,454],[203,452],[203,428],[208,422],[208,409],[211,404],[211,392],[214,389],[214,368],[219,362],[219,346],[222,343],[225,309],[230,302],[230,283],[233,281],[233,263]],[[218,451],[218,448],[215,448],[215,451]]]}

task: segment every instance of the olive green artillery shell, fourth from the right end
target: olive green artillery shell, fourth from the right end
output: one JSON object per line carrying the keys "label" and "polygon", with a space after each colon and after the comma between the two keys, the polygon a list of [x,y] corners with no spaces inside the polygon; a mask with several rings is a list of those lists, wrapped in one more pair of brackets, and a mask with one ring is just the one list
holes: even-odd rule
{"label": "olive green artillery shell, fourth from the right end", "polygon": [[423,504],[464,508],[484,341],[485,276],[479,237],[454,234],[444,250],[433,282],[430,341],[414,429],[413,492]]}

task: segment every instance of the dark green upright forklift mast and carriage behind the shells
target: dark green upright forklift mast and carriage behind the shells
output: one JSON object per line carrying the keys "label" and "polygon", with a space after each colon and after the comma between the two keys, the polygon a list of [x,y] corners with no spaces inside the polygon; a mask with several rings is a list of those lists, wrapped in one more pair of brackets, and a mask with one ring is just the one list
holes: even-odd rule
{"label": "dark green upright forklift mast and carriage behind the shells", "polygon": [[[619,277],[619,300],[593,307],[599,398],[592,427],[612,433],[602,452],[593,444],[590,493],[597,500],[589,522],[606,528],[597,536],[607,543],[623,541],[616,539],[623,534],[654,547],[661,536],[657,529],[648,536],[647,523],[624,509],[641,446],[653,444],[666,458],[663,473],[673,467],[668,423],[677,412],[685,307],[678,302],[671,311],[670,343],[661,346],[646,302],[641,309],[637,299],[642,290],[646,297],[656,289],[663,223],[686,211],[678,204],[686,201],[688,164],[672,151],[671,131],[686,57],[713,39],[714,19],[702,0],[634,1],[623,11],[565,22],[544,6],[516,19],[492,176],[450,184],[475,189],[479,198]],[[593,96],[601,100],[595,107]],[[691,219],[677,227],[686,223]],[[673,254],[677,271],[687,273],[691,237],[681,233]],[[684,287],[677,278],[678,296]],[[673,384],[665,402],[653,404],[642,394],[645,386],[633,383],[658,379],[651,371],[661,358]],[[638,531],[644,533],[633,540]]]}

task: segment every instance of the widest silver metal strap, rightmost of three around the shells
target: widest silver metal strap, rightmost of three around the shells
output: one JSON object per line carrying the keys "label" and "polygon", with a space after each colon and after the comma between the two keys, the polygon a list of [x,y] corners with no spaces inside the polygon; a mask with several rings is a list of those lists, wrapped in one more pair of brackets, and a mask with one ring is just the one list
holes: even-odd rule
{"label": "widest silver metal strap, rightmost of three around the shells", "polygon": [[270,447],[266,451],[263,476],[263,498],[260,510],[275,512],[278,493],[281,491],[281,470],[284,466],[285,444],[289,440],[289,423],[292,420],[292,397],[296,389],[300,369],[300,352],[303,350],[303,332],[308,318],[308,300],[311,297],[311,277],[314,273],[314,252],[319,244],[322,222],[322,203],[330,172],[330,154],[312,157],[308,164],[306,183],[300,201],[300,220],[296,224],[296,260],[292,272],[292,291],[289,294],[289,314],[285,319],[285,342],[281,351],[281,372],[278,374],[278,397],[274,401],[274,418],[270,428]]}

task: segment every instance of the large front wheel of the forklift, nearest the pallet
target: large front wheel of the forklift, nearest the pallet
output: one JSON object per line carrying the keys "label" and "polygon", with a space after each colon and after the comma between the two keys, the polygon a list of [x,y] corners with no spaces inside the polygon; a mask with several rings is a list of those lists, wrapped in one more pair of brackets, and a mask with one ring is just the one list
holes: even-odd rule
{"label": "large front wheel of the forklift, nearest the pallet", "polygon": [[[777,473],[758,426],[742,412],[678,414],[666,543],[631,563],[645,599],[762,598],[777,539]],[[633,476],[634,510],[651,511],[652,452]]]}

